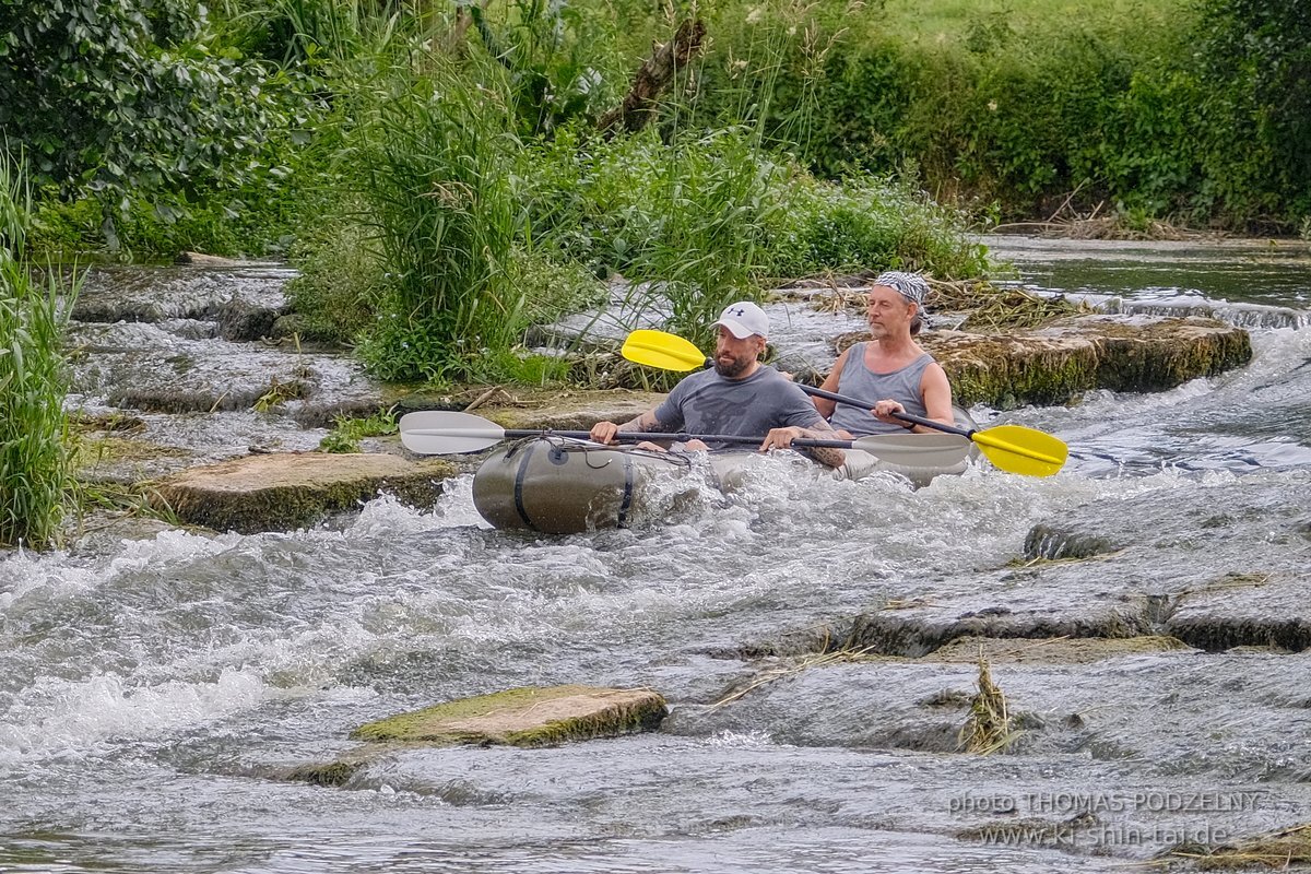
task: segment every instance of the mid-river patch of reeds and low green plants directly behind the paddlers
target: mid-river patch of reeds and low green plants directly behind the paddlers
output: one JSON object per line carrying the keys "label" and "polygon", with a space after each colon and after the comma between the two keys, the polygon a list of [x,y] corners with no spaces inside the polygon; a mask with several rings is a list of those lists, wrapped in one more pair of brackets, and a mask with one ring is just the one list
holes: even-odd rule
{"label": "mid-river patch of reeds and low green plants directly behind the paddlers", "polygon": [[611,274],[709,343],[722,307],[768,276],[986,269],[950,211],[903,186],[818,182],[754,130],[522,140],[503,77],[439,75],[357,114],[355,207],[292,284],[311,333],[358,342],[384,379],[523,379],[511,349],[528,325],[599,304]]}

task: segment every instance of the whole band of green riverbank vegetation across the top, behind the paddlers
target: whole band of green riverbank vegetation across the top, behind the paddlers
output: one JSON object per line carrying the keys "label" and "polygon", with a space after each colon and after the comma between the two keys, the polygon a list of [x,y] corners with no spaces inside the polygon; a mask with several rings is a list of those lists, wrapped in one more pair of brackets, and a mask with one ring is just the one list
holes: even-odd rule
{"label": "whole band of green riverbank vegetation across the top, behind the paddlers", "polygon": [[[983,275],[968,223],[1297,232],[1298,0],[14,0],[0,126],[55,256],[287,256],[393,380],[549,372],[628,280],[705,341],[771,278]],[[1097,231],[1097,232],[1100,232]]]}

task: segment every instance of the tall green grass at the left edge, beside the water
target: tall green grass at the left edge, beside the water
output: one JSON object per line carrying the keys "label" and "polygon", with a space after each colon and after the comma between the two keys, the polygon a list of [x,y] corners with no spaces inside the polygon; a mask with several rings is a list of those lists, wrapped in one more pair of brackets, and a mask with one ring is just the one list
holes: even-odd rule
{"label": "tall green grass at the left edge, beside the water", "polygon": [[58,539],[72,486],[58,271],[37,283],[21,262],[30,193],[0,148],[0,544]]}

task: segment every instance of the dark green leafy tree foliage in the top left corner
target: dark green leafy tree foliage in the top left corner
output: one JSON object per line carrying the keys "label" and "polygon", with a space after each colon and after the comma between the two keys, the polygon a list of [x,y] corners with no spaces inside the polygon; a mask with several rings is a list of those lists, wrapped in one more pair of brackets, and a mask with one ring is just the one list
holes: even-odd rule
{"label": "dark green leafy tree foliage in the top left corner", "polygon": [[206,41],[197,0],[3,0],[0,128],[26,147],[33,181],[136,198],[172,218],[176,195],[270,170],[261,147],[287,117],[267,71]]}

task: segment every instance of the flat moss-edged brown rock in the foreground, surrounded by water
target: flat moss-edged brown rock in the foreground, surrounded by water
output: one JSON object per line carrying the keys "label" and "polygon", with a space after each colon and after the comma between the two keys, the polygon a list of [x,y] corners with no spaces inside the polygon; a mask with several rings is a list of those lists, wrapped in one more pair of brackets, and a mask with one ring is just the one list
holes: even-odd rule
{"label": "flat moss-edged brown rock in the foreground, surrounded by water", "polygon": [[402,713],[355,729],[374,743],[547,747],[659,727],[665,698],[650,689],[523,687]]}

